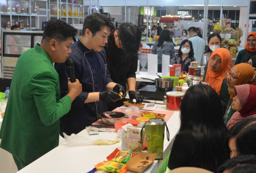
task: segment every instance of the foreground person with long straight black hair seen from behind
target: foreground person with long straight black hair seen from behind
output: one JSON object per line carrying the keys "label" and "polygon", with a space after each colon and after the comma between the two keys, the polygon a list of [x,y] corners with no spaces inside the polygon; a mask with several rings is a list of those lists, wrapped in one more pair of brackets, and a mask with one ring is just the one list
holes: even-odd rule
{"label": "foreground person with long straight black hair seen from behind", "polygon": [[218,94],[208,85],[193,85],[182,99],[180,119],[167,169],[200,167],[216,172],[228,158]]}

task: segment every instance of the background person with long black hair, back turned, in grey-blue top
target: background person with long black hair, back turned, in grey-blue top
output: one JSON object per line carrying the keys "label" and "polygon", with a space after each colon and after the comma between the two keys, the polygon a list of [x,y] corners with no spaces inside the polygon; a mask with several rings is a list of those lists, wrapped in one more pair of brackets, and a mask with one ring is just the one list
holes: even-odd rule
{"label": "background person with long black hair, back turned, in grey-blue top", "polygon": [[158,72],[162,72],[162,54],[170,55],[170,59],[174,57],[174,44],[170,41],[170,31],[163,30],[152,48],[152,53],[158,57]]}

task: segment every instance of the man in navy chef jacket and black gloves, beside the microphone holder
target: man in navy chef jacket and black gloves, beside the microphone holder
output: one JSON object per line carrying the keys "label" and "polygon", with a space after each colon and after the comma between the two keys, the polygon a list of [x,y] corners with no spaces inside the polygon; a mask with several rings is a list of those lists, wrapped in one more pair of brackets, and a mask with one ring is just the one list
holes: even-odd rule
{"label": "man in navy chef jacket and black gloves, beside the microphone holder", "polygon": [[[98,120],[98,114],[106,111],[107,102],[126,96],[122,85],[110,78],[103,47],[113,30],[113,24],[105,16],[94,13],[84,19],[82,36],[71,46],[76,78],[82,84],[82,92],[74,100],[71,110],[60,119],[60,135],[79,133]],[[61,94],[68,91],[66,64],[55,64],[59,74]]]}

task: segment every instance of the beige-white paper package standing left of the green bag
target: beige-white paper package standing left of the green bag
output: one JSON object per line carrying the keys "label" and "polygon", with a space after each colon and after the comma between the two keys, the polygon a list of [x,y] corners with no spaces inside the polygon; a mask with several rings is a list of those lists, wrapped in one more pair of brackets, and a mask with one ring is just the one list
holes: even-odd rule
{"label": "beige-white paper package standing left of the green bag", "polygon": [[[141,152],[143,141],[140,138],[141,127],[127,126],[127,144],[128,150],[132,152]],[[144,139],[144,134],[142,139]]]}

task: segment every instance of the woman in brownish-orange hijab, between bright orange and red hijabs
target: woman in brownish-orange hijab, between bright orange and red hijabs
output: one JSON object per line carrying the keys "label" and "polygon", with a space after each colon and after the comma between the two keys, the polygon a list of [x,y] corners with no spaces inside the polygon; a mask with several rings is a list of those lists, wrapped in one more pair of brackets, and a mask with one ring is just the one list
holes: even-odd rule
{"label": "woman in brownish-orange hijab, between bright orange and red hijabs", "polygon": [[241,84],[256,85],[255,71],[248,63],[239,63],[227,71],[227,86],[230,99],[227,104],[224,121],[227,124],[233,113],[236,111],[232,109],[232,101],[234,97],[234,86]]}

